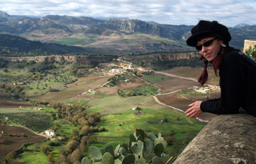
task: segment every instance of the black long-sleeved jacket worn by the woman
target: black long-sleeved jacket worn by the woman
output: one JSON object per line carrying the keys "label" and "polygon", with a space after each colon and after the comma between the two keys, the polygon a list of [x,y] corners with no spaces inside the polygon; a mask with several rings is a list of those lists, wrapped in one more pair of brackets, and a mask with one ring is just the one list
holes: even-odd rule
{"label": "black long-sleeved jacket worn by the woman", "polygon": [[256,117],[256,63],[230,48],[222,58],[219,75],[221,98],[203,101],[202,112],[234,114],[242,107]]}

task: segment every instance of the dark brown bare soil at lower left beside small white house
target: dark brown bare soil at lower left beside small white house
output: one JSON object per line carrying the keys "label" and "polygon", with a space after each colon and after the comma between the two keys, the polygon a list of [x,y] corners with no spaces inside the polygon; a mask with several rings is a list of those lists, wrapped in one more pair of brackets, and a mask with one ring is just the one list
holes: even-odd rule
{"label": "dark brown bare soil at lower left beside small white house", "polygon": [[[41,142],[44,136],[39,136],[23,127],[14,127],[0,124],[0,160],[5,160],[5,156],[25,143]],[[0,161],[1,162],[1,161]]]}

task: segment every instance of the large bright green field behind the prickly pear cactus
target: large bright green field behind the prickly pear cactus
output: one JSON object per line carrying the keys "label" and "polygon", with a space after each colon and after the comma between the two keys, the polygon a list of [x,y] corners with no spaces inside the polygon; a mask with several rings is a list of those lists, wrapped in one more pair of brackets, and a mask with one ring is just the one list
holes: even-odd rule
{"label": "large bright green field behind the prickly pear cactus", "polygon": [[[95,96],[92,95],[91,97]],[[72,99],[72,102],[75,102],[75,98]],[[93,135],[96,136],[97,142],[92,145],[98,148],[105,148],[107,145],[115,147],[118,144],[127,143],[128,136],[134,133],[136,128],[156,135],[160,132],[163,136],[167,136],[173,130],[174,137],[179,140],[184,139],[188,132],[200,132],[205,126],[205,124],[196,123],[192,118],[185,117],[181,112],[156,103],[153,97],[105,95],[105,97],[98,99],[87,97],[80,103],[90,105],[90,109],[87,109],[86,112],[100,112],[102,114],[99,125],[105,127],[107,131]],[[142,108],[142,112],[145,113],[134,115],[132,108],[135,106]],[[145,124],[145,121],[161,120],[167,120],[172,124]],[[169,146],[166,151],[171,152],[172,146]]]}

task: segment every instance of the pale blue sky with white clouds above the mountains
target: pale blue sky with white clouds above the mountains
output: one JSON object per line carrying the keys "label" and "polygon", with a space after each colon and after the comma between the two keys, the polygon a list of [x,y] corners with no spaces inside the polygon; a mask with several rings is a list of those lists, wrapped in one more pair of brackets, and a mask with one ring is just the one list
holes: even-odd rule
{"label": "pale blue sky with white clouds above the mountains", "polygon": [[233,27],[256,24],[256,0],[1,0],[0,10],[23,16],[119,17],[168,25],[200,19]]}

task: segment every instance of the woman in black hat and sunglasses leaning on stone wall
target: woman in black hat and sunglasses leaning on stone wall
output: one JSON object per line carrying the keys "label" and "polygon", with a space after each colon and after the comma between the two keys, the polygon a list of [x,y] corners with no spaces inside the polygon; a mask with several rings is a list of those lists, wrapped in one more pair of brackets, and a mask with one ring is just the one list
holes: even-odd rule
{"label": "woman in black hat and sunglasses leaning on stone wall", "polygon": [[192,28],[187,45],[200,51],[205,64],[198,82],[203,85],[207,81],[207,64],[212,63],[215,74],[220,76],[221,98],[191,103],[185,112],[187,117],[197,118],[203,112],[235,114],[240,108],[256,117],[256,64],[230,47],[230,40],[227,27],[217,21],[200,20]]}

